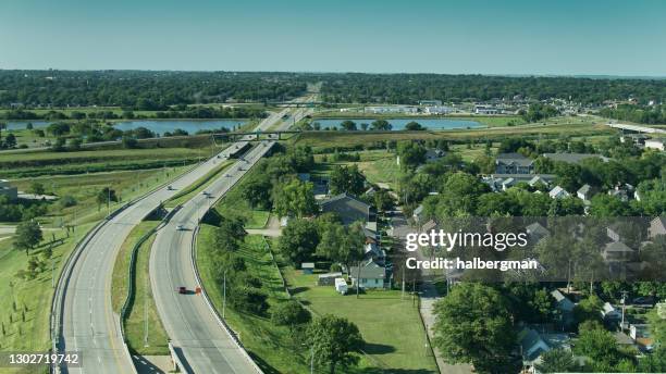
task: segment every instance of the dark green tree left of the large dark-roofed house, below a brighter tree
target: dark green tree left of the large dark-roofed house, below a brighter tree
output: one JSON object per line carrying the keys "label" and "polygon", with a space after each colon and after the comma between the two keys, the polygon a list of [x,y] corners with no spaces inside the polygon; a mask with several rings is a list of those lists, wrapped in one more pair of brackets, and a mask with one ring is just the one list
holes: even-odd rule
{"label": "dark green tree left of the large dark-roofed house, below a brighter tree", "polygon": [[282,230],[278,249],[293,265],[300,265],[309,259],[319,245],[317,225],[304,219],[291,220]]}

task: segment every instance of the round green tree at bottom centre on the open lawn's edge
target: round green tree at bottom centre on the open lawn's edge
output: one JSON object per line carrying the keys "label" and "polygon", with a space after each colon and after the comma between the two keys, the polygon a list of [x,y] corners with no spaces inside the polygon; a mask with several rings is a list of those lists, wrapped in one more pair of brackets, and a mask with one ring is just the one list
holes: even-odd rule
{"label": "round green tree at bottom centre on the open lawn's edge", "polygon": [[346,319],[326,314],[317,319],[308,328],[314,361],[328,364],[329,373],[334,374],[336,366],[347,367],[358,363],[353,354],[363,345],[358,327]]}

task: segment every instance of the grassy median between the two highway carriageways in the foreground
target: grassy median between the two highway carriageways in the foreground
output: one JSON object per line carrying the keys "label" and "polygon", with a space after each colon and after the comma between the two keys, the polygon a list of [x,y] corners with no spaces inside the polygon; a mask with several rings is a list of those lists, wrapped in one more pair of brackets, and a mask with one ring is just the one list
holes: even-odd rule
{"label": "grassy median between the two highway carriageways in the foreground", "polygon": [[[141,236],[151,228],[159,225],[159,221],[145,221],[132,229],[130,236],[123,242],[119,255],[115,258],[113,266],[112,301],[113,310],[120,313],[125,297],[127,296],[127,276],[132,248]],[[134,280],[134,302],[130,309],[130,315],[123,321],[125,326],[125,337],[130,349],[138,354],[169,354],[169,336],[162,326],[162,322],[157,312],[152,291],[150,288],[150,277],[148,273],[150,248],[155,235],[146,240],[138,249],[136,258],[136,277]],[[144,340],[145,317],[148,316],[148,341]]]}

